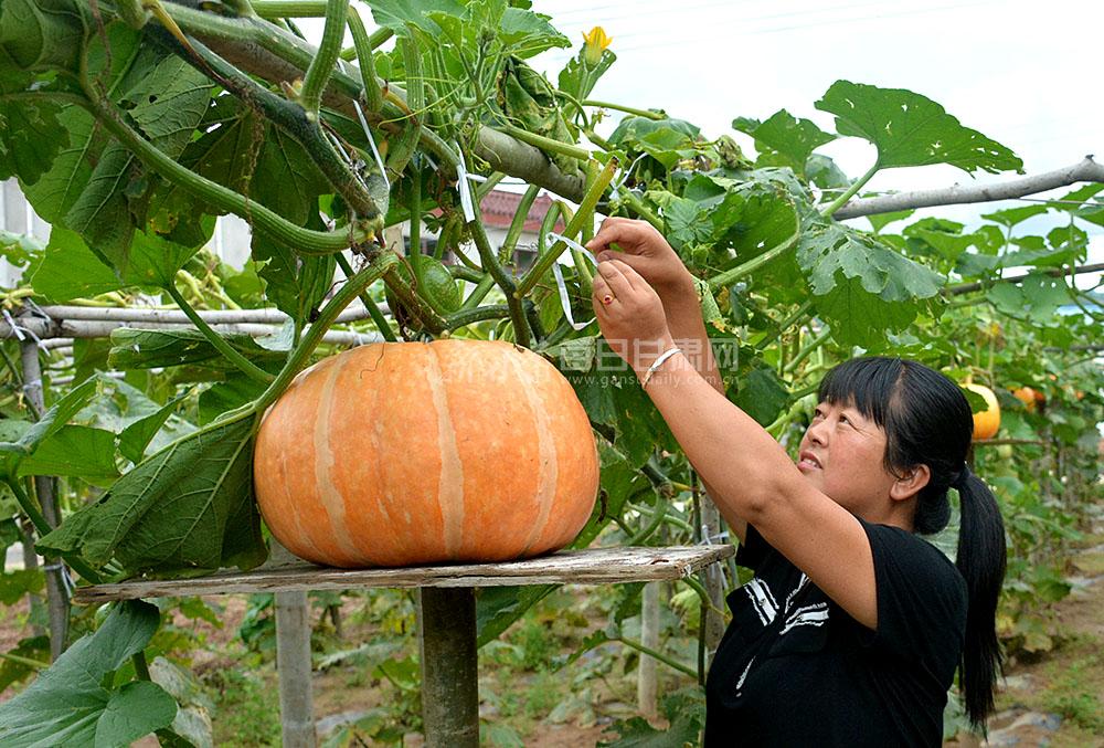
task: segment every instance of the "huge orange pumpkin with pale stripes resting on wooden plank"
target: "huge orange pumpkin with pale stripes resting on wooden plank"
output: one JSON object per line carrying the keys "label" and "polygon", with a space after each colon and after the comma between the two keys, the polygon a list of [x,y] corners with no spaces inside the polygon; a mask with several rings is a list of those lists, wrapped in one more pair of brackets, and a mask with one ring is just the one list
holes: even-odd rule
{"label": "huge orange pumpkin with pale stripes resting on wooden plank", "polygon": [[254,481],[291,552],[355,568],[499,561],[571,542],[598,456],[571,383],[509,343],[381,343],[300,373],[265,414]]}

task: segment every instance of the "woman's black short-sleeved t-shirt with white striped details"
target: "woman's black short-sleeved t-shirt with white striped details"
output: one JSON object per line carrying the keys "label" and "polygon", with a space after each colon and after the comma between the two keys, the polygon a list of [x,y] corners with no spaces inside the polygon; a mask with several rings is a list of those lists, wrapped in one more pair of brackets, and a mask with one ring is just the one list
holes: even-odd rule
{"label": "woman's black short-sleeved t-shirt with white striped details", "polygon": [[755,578],[705,682],[705,746],[938,746],[966,629],[966,583],[935,546],[859,520],[874,559],[878,631],[747,527]]}

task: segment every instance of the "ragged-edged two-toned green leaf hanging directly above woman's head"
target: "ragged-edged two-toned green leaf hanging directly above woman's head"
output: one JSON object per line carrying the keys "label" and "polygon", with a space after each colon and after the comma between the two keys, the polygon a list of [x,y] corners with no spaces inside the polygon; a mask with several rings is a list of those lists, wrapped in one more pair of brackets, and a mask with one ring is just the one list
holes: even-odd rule
{"label": "ragged-edged two-toned green leaf hanging directly above woman's head", "polygon": [[878,238],[835,222],[813,221],[797,259],[817,310],[845,346],[882,344],[887,330],[904,329],[930,306],[943,284],[943,276]]}

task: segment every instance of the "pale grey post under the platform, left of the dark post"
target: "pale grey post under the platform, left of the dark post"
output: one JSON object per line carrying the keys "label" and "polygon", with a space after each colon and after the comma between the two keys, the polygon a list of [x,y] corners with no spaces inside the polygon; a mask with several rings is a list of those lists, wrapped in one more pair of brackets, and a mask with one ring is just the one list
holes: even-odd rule
{"label": "pale grey post under the platform, left of the dark post", "polygon": [[310,607],[307,592],[276,593],[276,670],[285,748],[315,748],[310,687]]}

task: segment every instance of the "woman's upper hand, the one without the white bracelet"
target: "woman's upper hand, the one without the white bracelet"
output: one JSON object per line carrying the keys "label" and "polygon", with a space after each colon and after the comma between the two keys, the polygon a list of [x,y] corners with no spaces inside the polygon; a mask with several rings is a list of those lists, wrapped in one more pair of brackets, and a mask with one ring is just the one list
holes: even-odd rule
{"label": "woman's upper hand, the one without the white bracelet", "polygon": [[[614,242],[622,252],[609,249]],[[586,243],[586,249],[594,252],[599,262],[616,257],[635,270],[656,289],[665,305],[686,295],[697,299],[690,271],[664,235],[647,221],[607,218],[594,239]]]}

